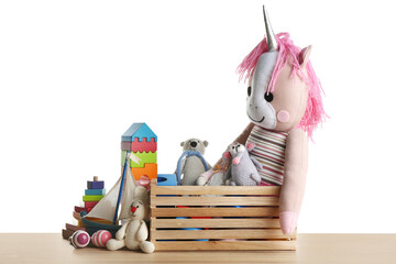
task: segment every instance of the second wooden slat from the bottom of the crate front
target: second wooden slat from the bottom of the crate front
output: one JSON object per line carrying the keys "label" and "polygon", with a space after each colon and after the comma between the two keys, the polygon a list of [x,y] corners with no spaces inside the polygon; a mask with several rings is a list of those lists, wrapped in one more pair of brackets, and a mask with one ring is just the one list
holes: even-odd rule
{"label": "second wooden slat from the bottom of the crate front", "polygon": [[[295,239],[295,235],[290,237]],[[156,230],[155,240],[273,239],[286,240],[280,229]]]}

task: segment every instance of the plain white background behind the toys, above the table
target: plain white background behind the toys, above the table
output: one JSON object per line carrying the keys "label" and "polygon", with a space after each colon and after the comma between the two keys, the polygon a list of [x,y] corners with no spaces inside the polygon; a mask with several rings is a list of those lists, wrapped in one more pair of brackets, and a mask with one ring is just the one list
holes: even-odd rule
{"label": "plain white background behind the toys, above the table", "polygon": [[[146,122],[158,172],[180,141],[215,163],[249,120],[235,68],[262,1],[1,1],[0,232],[61,232],[86,180],[111,187],[121,134]],[[392,1],[267,1],[304,47],[331,117],[315,133],[299,232],[396,232]]]}

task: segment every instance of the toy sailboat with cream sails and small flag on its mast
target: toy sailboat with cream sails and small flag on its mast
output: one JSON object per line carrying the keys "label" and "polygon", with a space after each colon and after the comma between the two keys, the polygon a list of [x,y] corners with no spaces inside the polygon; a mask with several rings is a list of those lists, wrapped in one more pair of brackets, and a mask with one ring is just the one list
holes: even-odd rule
{"label": "toy sailboat with cream sails and small flag on its mast", "polygon": [[[132,177],[130,168],[130,158],[139,160],[132,153],[128,152],[123,173],[117,180],[110,191],[90,210],[88,213],[81,212],[81,220],[86,226],[87,232],[94,234],[98,230],[108,230],[114,237],[121,228],[119,221],[129,217],[130,205],[133,200],[133,190],[136,183]],[[118,216],[121,205],[120,216]],[[106,223],[108,222],[108,223]]]}

